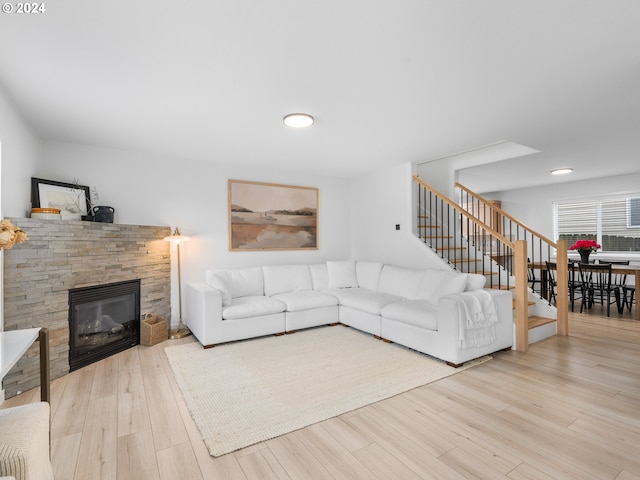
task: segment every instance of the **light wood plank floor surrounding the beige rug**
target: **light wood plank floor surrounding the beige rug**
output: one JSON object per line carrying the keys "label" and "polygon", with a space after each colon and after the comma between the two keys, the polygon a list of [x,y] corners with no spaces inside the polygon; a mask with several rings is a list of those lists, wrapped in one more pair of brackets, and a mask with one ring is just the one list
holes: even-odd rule
{"label": "light wood plank floor surrounding the beige rug", "polygon": [[[640,324],[570,314],[570,332],[217,459],[187,412],[168,343],[137,347],[52,383],[55,478],[640,478]],[[172,342],[184,341],[194,340]]]}

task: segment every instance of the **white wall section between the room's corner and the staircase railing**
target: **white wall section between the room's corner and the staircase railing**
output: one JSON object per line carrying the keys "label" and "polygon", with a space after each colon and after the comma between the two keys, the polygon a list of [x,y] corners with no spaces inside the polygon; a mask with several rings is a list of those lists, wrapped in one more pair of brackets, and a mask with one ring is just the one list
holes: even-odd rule
{"label": "white wall section between the room's corner and the staircase railing", "polygon": [[406,163],[351,181],[353,258],[448,268],[412,232],[412,175],[413,165]]}

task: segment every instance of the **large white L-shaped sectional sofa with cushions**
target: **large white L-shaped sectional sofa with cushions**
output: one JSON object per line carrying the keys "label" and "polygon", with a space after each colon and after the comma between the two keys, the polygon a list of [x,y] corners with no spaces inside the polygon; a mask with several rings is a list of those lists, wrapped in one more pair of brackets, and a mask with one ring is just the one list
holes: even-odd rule
{"label": "large white L-shaped sectional sofa with cushions", "polygon": [[455,270],[370,261],[208,270],[184,320],[204,347],[342,323],[452,365],[511,347],[511,293]]}

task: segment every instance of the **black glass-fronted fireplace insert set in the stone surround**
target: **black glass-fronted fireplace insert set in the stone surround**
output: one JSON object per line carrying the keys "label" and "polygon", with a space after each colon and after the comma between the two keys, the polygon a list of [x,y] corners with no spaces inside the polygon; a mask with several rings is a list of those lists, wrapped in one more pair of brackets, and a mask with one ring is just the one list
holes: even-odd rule
{"label": "black glass-fronted fireplace insert set in the stone surround", "polygon": [[69,290],[69,370],[140,343],[140,280]]}

